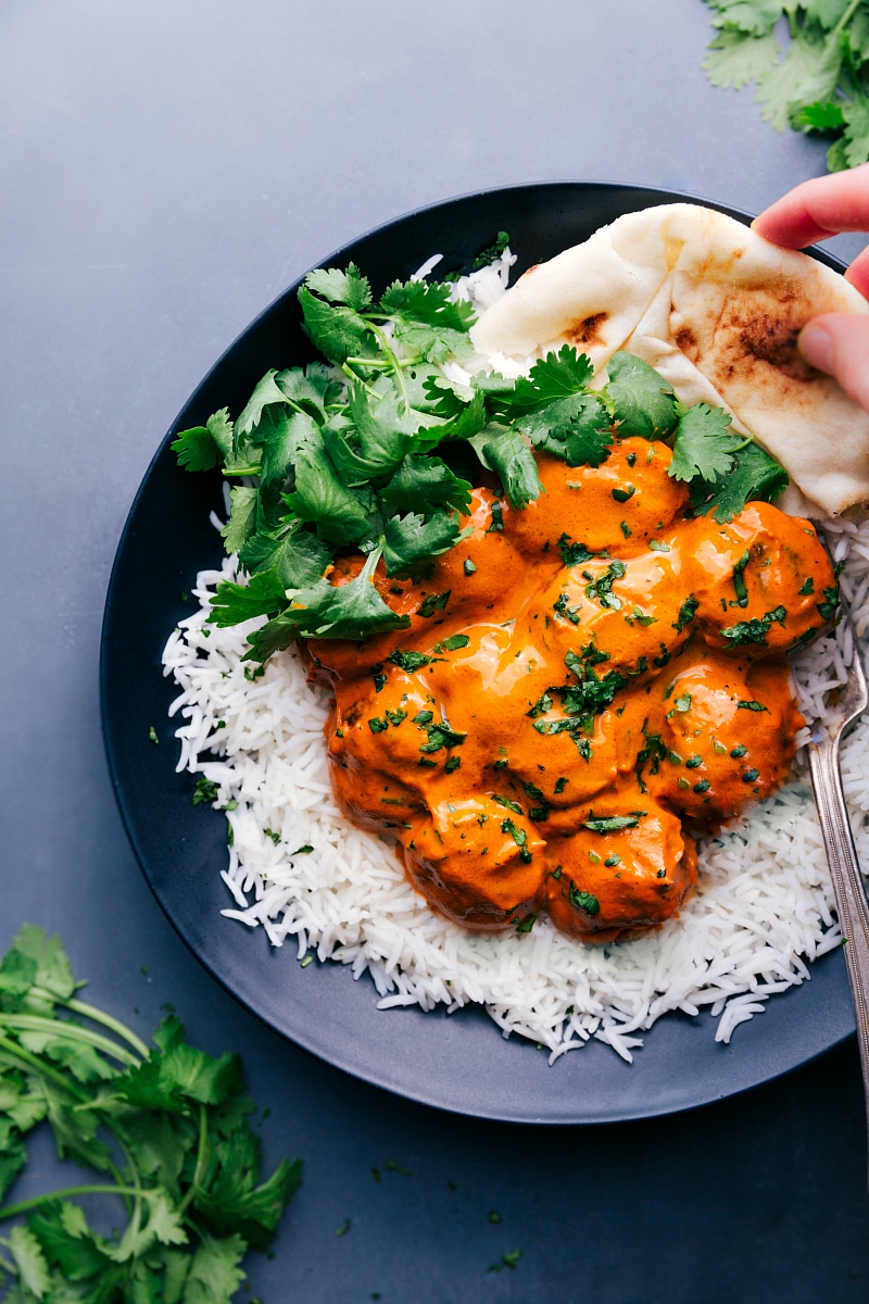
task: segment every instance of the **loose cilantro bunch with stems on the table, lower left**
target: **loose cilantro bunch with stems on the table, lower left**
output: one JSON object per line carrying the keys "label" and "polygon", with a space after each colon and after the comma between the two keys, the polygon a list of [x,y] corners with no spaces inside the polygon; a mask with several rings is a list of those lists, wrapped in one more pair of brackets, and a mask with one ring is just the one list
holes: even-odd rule
{"label": "loose cilantro bunch with stems on the table, lower left", "polygon": [[[57,938],[25,925],[0,962],[0,1200],[48,1120],[57,1154],[103,1175],[0,1208],[0,1287],[14,1304],[223,1304],[250,1245],[270,1244],[301,1163],[259,1183],[240,1064],[184,1041],[175,1016],[156,1048],[77,999]],[[70,1197],[112,1194],[126,1227],[103,1236]],[[115,1206],[112,1206],[115,1208]]]}

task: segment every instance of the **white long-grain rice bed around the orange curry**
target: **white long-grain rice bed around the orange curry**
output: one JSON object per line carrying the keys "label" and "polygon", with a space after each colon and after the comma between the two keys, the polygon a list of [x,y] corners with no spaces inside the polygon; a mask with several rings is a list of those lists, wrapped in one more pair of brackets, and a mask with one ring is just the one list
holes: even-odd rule
{"label": "white long-grain rice bed around the orange curry", "polygon": [[[459,286],[482,310],[503,293],[515,259],[504,256]],[[435,261],[420,269],[427,274]],[[494,284],[494,279],[499,284]],[[216,522],[215,518],[215,523]],[[859,639],[869,634],[869,522],[829,526],[842,589]],[[806,961],[840,944],[833,891],[805,772],[700,845],[697,892],[679,915],[646,938],[585,947],[546,918],[530,934],[478,936],[434,914],[404,876],[388,837],[354,828],[330,784],[323,725],[330,694],[311,689],[292,652],[262,675],[242,662],[258,622],[207,625],[216,584],[236,579],[236,561],[197,578],[199,608],[164,653],[180,694],[171,715],[184,724],[177,769],[218,785],[215,807],[232,829],[221,878],[233,906],[221,913],[262,926],[275,947],[294,941],[354,978],[366,971],[379,1005],[418,1004],[449,1012],[486,1007],[504,1037],[517,1033],[550,1050],[550,1063],[590,1038],[631,1061],[632,1048],[668,1011],[718,1018],[715,1039],[762,1013],[774,994],[810,977]],[[846,678],[851,649],[829,636],[796,666],[800,708],[821,721],[827,695]],[[865,645],[860,647],[865,656]],[[801,732],[806,742],[809,730]],[[842,771],[857,853],[869,865],[869,722],[842,748]],[[300,848],[313,848],[302,850]]]}

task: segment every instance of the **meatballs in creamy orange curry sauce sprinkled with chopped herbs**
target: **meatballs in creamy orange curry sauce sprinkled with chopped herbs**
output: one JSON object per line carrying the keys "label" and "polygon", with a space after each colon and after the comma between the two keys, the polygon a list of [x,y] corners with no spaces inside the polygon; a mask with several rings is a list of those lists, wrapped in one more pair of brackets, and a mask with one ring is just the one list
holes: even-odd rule
{"label": "meatballs in creamy orange curry sauce sprinkled with chopped herbs", "polygon": [[[545,492],[522,511],[476,489],[473,533],[425,580],[380,566],[409,629],[307,645],[335,690],[341,810],[393,835],[465,928],[526,931],[541,911],[582,941],[653,927],[697,878],[685,824],[787,776],[803,719],[784,657],[823,623],[829,558],[763,502],[724,526],[689,516],[670,460],[640,438],[598,468],[539,456]],[[740,622],[762,642],[722,634]]]}

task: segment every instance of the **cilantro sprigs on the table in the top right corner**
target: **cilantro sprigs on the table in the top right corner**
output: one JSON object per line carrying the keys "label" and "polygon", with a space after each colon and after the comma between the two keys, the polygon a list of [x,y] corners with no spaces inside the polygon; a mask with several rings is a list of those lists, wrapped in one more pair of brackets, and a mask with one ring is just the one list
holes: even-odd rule
{"label": "cilantro sprigs on the table in the top right corner", "polygon": [[[830,137],[831,172],[869,159],[866,0],[706,0],[718,35],[704,68],[714,86],[756,83],[763,117]],[[778,30],[787,22],[784,56]]]}

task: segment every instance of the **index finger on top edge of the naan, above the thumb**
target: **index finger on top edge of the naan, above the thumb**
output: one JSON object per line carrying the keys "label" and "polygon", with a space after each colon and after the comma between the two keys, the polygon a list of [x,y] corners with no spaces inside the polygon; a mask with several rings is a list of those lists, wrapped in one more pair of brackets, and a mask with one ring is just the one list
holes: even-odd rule
{"label": "index finger on top edge of the naan, above the thumb", "polygon": [[803,181],[754,218],[752,227],[786,249],[804,249],[842,231],[869,231],[869,163]]}

